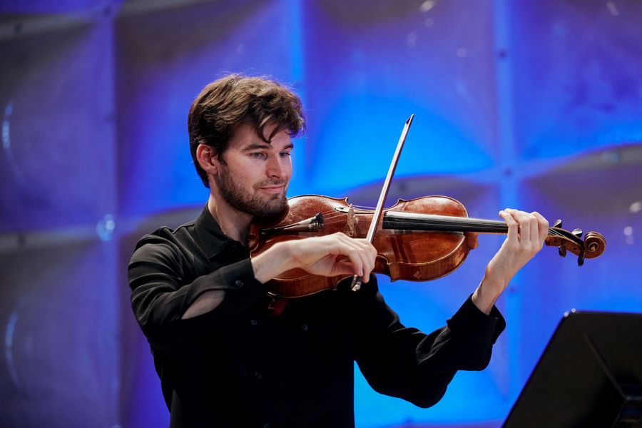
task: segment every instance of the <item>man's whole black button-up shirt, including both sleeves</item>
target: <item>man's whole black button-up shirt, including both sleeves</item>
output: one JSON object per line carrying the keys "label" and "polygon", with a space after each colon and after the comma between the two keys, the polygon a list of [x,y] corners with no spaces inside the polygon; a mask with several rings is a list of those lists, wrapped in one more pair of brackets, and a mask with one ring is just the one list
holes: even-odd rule
{"label": "man's whole black button-up shirt, including both sleeves", "polygon": [[[207,207],[136,246],[131,302],[170,427],[353,427],[353,361],[377,392],[429,407],[457,370],[488,365],[506,325],[495,307],[485,315],[469,298],[426,335],[399,322],[374,277],[359,292],[340,284],[274,315],[249,256]],[[182,320],[206,290],[225,290],[223,302]]]}

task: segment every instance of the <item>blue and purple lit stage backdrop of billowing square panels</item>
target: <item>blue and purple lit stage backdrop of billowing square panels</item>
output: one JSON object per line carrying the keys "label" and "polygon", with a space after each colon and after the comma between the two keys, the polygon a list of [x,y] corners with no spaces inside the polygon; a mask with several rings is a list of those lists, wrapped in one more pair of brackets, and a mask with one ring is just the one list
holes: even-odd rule
{"label": "blue and purple lit stage backdrop of billowing square panels", "polygon": [[[484,372],[419,409],[357,370],[358,427],[499,427],[565,311],[642,310],[642,3],[509,0],[0,1],[3,427],[168,424],[129,306],[136,240],[207,198],[188,151],[200,88],[289,83],[307,110],[290,196],[449,195],[473,217],[537,210],[596,230],[578,267],[545,248],[499,301]],[[440,280],[390,282],[402,322],[444,324],[501,245]]]}

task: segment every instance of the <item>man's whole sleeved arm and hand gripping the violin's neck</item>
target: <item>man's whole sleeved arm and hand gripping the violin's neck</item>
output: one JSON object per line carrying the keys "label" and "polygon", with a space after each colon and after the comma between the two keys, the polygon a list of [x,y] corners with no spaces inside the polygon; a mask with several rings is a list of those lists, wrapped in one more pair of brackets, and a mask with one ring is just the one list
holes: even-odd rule
{"label": "man's whole sleeved arm and hand gripping the violin's neck", "polygon": [[457,370],[483,370],[488,365],[492,345],[506,326],[494,303],[515,273],[541,250],[549,226],[539,213],[506,209],[499,215],[508,225],[506,240],[477,290],[446,327],[429,335],[406,328],[376,292],[377,303],[362,312],[369,320],[355,352],[375,390],[429,407],[442,398]]}

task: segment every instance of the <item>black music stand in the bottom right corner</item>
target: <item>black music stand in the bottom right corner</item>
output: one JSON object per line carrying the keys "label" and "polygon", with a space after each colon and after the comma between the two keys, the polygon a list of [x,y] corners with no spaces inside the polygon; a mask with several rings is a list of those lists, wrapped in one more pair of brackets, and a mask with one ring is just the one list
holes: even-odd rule
{"label": "black music stand in the bottom right corner", "polygon": [[642,428],[642,314],[566,312],[503,428]]}

